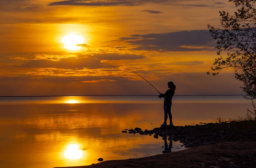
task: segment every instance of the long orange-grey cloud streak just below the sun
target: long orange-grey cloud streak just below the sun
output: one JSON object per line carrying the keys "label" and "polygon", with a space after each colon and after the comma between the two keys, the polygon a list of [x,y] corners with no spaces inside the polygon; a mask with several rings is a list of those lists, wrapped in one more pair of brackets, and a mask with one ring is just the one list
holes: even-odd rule
{"label": "long orange-grey cloud streak just below the sun", "polygon": [[[60,58],[57,58],[60,57]],[[70,57],[39,54],[34,58],[24,59],[16,57],[19,60],[18,64],[10,64],[9,67],[21,68],[64,68],[71,70],[81,70],[84,68],[98,69],[116,67],[110,64],[105,64],[102,60],[135,60],[143,59],[146,56],[136,54],[118,54],[118,53],[104,53],[93,55],[73,55]],[[0,59],[1,60],[1,59]]]}

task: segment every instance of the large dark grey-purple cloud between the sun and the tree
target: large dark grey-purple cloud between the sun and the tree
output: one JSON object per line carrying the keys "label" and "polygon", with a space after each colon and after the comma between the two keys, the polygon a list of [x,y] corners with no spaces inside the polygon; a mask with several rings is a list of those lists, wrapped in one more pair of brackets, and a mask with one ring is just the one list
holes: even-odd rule
{"label": "large dark grey-purple cloud between the sun and the tree", "polygon": [[[129,40],[129,38],[135,38],[135,40]],[[134,46],[133,50],[159,52],[201,51],[211,50],[209,48],[212,47],[214,49],[215,47],[215,41],[212,39],[208,30],[178,31],[158,34],[134,34],[130,37],[119,38],[117,41],[127,42],[131,46]]]}

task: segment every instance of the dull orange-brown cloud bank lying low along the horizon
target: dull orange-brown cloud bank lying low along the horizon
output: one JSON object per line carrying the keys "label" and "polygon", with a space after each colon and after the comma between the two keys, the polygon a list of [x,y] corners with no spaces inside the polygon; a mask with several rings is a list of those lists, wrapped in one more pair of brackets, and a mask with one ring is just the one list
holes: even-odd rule
{"label": "dull orange-brown cloud bank lying low along the horizon", "polygon": [[[132,73],[130,76],[133,76]],[[165,74],[163,79],[157,81],[150,79],[154,87],[161,92],[168,89],[168,81],[173,81],[177,86],[175,95],[244,94],[239,88],[242,86],[241,81],[236,80],[233,73],[221,73],[218,76],[207,76],[206,73],[177,73]],[[38,89],[38,86],[44,89]],[[132,81],[127,77],[111,76],[107,73],[102,76],[5,76],[0,77],[0,92],[1,95],[157,95],[141,78]]]}

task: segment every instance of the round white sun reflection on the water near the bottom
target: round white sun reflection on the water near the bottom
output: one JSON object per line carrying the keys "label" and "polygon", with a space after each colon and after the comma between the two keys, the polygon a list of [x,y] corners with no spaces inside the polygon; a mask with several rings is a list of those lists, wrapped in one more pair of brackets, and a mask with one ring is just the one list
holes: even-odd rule
{"label": "round white sun reflection on the water near the bottom", "polygon": [[77,144],[71,144],[67,146],[67,149],[64,152],[64,156],[67,159],[72,159],[72,160],[81,159],[82,155],[83,155],[83,150],[81,150]]}

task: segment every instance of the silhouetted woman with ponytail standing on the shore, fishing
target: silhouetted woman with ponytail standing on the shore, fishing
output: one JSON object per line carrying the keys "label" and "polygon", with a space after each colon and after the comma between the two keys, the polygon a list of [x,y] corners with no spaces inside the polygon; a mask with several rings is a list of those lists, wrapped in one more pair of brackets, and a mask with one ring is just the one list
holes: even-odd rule
{"label": "silhouetted woman with ponytail standing on the shore, fishing", "polygon": [[165,94],[161,93],[158,96],[159,98],[164,98],[164,101],[163,101],[164,122],[161,126],[167,126],[166,121],[167,121],[168,115],[169,115],[169,119],[170,119],[169,126],[173,126],[171,107],[172,107],[172,97],[175,93],[176,86],[172,81],[169,81],[167,84],[168,84],[168,88],[170,88],[170,89],[166,90]]}

